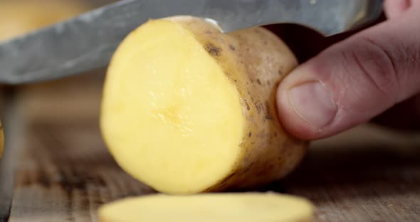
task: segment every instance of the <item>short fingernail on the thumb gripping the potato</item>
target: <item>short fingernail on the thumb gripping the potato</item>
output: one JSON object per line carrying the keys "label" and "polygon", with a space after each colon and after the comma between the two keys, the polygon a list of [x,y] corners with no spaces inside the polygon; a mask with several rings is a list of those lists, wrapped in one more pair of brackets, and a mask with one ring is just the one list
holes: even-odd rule
{"label": "short fingernail on the thumb gripping the potato", "polygon": [[329,124],[337,113],[331,93],[320,82],[297,85],[289,90],[288,96],[295,112],[317,129]]}

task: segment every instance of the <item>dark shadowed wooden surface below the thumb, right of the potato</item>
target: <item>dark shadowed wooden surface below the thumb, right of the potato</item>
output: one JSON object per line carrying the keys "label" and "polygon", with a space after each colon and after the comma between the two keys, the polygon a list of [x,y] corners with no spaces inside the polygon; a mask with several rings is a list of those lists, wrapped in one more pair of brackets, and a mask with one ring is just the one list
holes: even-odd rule
{"label": "dark shadowed wooden surface below the thumb, right of the potato", "polygon": [[314,143],[284,191],[317,221],[420,221],[420,137],[372,125]]}

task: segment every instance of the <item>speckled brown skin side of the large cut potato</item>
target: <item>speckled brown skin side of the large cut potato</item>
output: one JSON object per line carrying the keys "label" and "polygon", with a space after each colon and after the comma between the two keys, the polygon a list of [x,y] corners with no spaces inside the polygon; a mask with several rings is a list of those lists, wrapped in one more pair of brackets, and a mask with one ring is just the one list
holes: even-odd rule
{"label": "speckled brown skin side of the large cut potato", "polygon": [[182,23],[217,60],[241,95],[247,132],[242,157],[226,178],[206,191],[250,189],[283,178],[303,159],[308,142],[287,134],[275,108],[275,90],[298,65],[288,46],[265,28],[229,34],[201,18],[167,18]]}

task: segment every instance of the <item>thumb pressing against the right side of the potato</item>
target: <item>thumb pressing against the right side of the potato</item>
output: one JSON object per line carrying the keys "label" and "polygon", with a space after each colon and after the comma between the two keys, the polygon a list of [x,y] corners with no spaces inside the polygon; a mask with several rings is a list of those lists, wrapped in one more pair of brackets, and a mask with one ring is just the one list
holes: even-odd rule
{"label": "thumb pressing against the right side of the potato", "polygon": [[279,85],[285,129],[320,139],[349,129],[420,91],[420,1],[401,16],[337,43]]}

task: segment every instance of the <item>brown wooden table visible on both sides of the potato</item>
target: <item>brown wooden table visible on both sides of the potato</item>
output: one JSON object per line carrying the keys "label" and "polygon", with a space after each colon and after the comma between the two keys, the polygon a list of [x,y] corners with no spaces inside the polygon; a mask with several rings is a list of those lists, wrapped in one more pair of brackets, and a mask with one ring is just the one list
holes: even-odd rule
{"label": "brown wooden table visible on both sides of the potato", "polygon": [[[13,196],[0,198],[0,221],[97,221],[101,204],[154,192],[103,144],[102,77],[20,88],[6,103],[0,197],[11,196],[8,187]],[[293,174],[263,190],[307,197],[316,221],[420,221],[419,134],[364,125],[314,142]]]}

